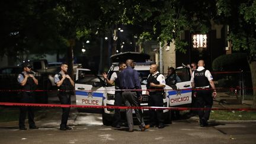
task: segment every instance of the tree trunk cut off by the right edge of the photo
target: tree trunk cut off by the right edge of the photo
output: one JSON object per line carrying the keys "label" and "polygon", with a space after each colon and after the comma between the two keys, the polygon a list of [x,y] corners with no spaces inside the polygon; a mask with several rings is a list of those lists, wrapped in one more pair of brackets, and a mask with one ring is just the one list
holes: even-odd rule
{"label": "tree trunk cut off by the right edge of the photo", "polygon": [[256,62],[252,61],[249,63],[249,67],[251,69],[251,78],[252,78],[252,88],[253,88],[253,103],[252,108],[256,108]]}

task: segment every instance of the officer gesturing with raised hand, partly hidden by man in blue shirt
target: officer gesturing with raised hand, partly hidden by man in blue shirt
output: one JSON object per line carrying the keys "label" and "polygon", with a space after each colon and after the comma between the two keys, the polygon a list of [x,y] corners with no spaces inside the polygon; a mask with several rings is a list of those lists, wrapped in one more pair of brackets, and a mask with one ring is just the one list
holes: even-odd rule
{"label": "officer gesturing with raised hand, partly hidden by man in blue shirt", "polygon": [[[126,64],[124,62],[119,62],[119,71],[117,72],[113,72],[111,75],[110,80],[108,80],[107,78],[107,73],[103,73],[103,77],[105,79],[105,81],[107,82],[107,84],[110,85],[115,85],[115,97],[114,97],[114,105],[116,106],[120,106],[121,104],[123,104],[123,98],[121,96],[121,91],[119,91],[120,89],[120,84],[119,84],[119,73],[123,70],[126,69]],[[116,108],[115,109],[115,113],[114,113],[114,117],[113,117],[113,123],[112,126],[116,127],[116,128],[120,128],[120,119],[121,119],[121,115],[120,115],[120,109]]]}

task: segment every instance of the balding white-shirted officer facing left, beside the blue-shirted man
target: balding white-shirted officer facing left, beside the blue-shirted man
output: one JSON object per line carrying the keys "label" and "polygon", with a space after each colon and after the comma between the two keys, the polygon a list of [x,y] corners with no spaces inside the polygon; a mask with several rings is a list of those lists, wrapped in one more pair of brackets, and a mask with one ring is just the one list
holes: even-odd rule
{"label": "balding white-shirted officer facing left, beside the blue-shirted man", "polygon": [[[148,83],[146,85],[146,94],[149,95],[149,107],[164,107],[164,75],[158,72],[158,66],[153,64],[149,68]],[[163,110],[149,110],[151,118],[151,127],[158,123],[158,128],[164,128]]]}

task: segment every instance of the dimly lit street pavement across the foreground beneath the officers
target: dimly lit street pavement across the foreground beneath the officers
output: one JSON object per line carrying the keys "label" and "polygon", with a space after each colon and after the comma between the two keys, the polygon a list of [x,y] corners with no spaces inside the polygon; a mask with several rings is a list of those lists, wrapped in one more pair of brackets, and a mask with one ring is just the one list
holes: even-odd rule
{"label": "dimly lit street pavement across the foreground beneath the officers", "polygon": [[124,126],[104,126],[101,114],[78,113],[75,108],[68,121],[73,129],[62,131],[61,109],[43,110],[46,114],[36,120],[40,129],[19,130],[18,121],[0,123],[0,143],[255,143],[256,136],[255,123],[210,123],[209,127],[200,127],[191,119],[173,121],[164,129],[151,127],[145,132],[136,125],[135,132],[127,132]]}

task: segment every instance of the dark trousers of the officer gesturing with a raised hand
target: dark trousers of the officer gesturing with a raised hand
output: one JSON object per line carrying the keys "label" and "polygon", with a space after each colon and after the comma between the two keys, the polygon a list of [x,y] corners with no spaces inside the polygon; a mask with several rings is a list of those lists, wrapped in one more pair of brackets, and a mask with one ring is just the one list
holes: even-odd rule
{"label": "dark trousers of the officer gesturing with a raised hand", "polygon": [[[123,103],[123,98],[121,96],[121,92],[116,91],[114,105],[120,106],[122,103]],[[114,118],[113,119],[113,125],[116,126],[119,123],[120,119],[121,119],[121,114],[120,114],[120,109],[119,108],[115,109],[115,113],[114,113],[113,118]]]}

